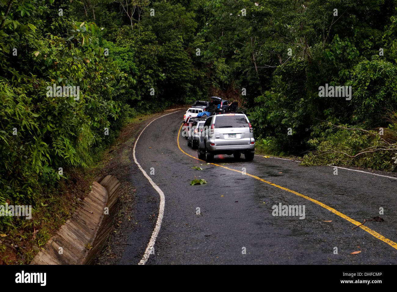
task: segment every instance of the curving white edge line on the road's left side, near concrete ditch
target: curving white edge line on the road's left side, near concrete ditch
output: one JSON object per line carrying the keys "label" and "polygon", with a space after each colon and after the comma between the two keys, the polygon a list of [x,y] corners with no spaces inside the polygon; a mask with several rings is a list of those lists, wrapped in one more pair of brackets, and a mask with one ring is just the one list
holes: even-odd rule
{"label": "curving white edge line on the road's left side, near concrete ditch", "polygon": [[[180,112],[181,110],[176,110],[175,112]],[[173,114],[175,112],[170,112],[169,114]],[[150,237],[149,243],[146,246],[146,250],[145,250],[145,254],[143,255],[142,259],[139,261],[138,265],[145,265],[145,263],[148,261],[149,256],[150,256],[150,252],[152,251],[152,248],[154,247],[154,244],[156,242],[156,238],[158,235],[158,232],[160,231],[160,227],[161,227],[161,222],[163,220],[164,217],[164,206],[166,204],[166,199],[164,196],[164,193],[162,190],[160,190],[160,188],[153,182],[153,180],[150,178],[150,176],[148,176],[148,174],[146,173],[145,170],[143,170],[141,164],[138,163],[137,161],[137,157],[135,157],[135,147],[137,147],[137,142],[139,140],[139,137],[141,137],[143,131],[145,131],[145,129],[152,124],[152,122],[154,122],[155,120],[162,118],[164,116],[168,116],[169,114],[165,114],[163,116],[160,116],[158,118],[155,118],[154,120],[152,120],[149,124],[146,125],[145,128],[143,128],[143,130],[141,131],[141,133],[139,133],[139,136],[137,137],[137,139],[135,140],[135,144],[134,144],[134,149],[133,149],[133,157],[134,157],[134,161],[137,164],[137,166],[139,167],[139,169],[141,170],[141,172],[143,173],[143,175],[148,179],[148,181],[150,182],[150,184],[152,185],[152,187],[154,188],[154,190],[156,190],[158,192],[158,194],[160,195],[160,206],[158,208],[158,217],[157,217],[157,221],[156,221],[156,226],[154,227],[154,230],[152,232],[152,236]]]}

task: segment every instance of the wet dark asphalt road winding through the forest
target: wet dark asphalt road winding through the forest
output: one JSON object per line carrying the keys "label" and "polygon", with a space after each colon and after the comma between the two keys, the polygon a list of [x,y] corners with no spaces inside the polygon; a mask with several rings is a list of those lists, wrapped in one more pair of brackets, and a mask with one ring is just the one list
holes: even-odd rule
{"label": "wet dark asphalt road winding through the forest", "polygon": [[[133,163],[137,224],[119,264],[397,263],[397,178],[341,168],[334,175],[331,166],[262,156],[247,162],[222,155],[206,164],[187,147],[182,116],[154,120],[136,143],[137,162],[164,193],[164,217],[153,235],[160,195]],[[190,186],[195,176],[208,183]],[[273,216],[279,203],[304,205],[304,219]],[[354,228],[376,216],[384,221]]]}

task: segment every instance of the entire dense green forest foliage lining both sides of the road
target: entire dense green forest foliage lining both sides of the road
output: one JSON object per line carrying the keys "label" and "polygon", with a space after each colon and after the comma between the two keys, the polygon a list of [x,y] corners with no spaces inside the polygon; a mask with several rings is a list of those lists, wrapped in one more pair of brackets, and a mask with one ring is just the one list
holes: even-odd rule
{"label": "entire dense green forest foliage lining both sides of the road", "polygon": [[[392,167],[395,0],[0,6],[0,204],[35,205],[127,118],[215,93],[247,102],[265,151],[309,153],[305,164]],[[351,100],[320,97],[326,83],[351,86]],[[48,94],[54,84],[79,86],[79,98]],[[385,137],[374,135],[380,127]]]}

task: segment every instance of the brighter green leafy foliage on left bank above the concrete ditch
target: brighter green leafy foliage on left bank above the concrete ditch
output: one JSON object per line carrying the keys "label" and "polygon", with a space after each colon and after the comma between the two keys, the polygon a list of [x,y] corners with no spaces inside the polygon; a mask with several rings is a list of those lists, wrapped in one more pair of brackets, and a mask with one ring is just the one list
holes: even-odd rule
{"label": "brighter green leafy foliage on left bank above the concrete ditch", "polygon": [[[91,149],[114,137],[103,135],[122,106],[112,86],[131,78],[105,59],[94,23],[60,21],[45,1],[12,5],[0,31],[0,203],[34,205],[59,168],[87,165]],[[53,84],[79,86],[77,100],[48,94]]]}

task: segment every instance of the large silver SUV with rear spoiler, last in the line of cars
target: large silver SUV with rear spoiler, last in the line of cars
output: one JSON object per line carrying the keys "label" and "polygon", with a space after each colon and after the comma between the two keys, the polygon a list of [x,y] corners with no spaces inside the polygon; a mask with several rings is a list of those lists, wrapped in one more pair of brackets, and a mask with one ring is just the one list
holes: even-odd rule
{"label": "large silver SUV with rear spoiler, last in the line of cars", "polygon": [[227,154],[254,159],[255,139],[252,126],[243,112],[217,113],[210,116],[200,132],[198,159],[209,162],[214,155]]}

